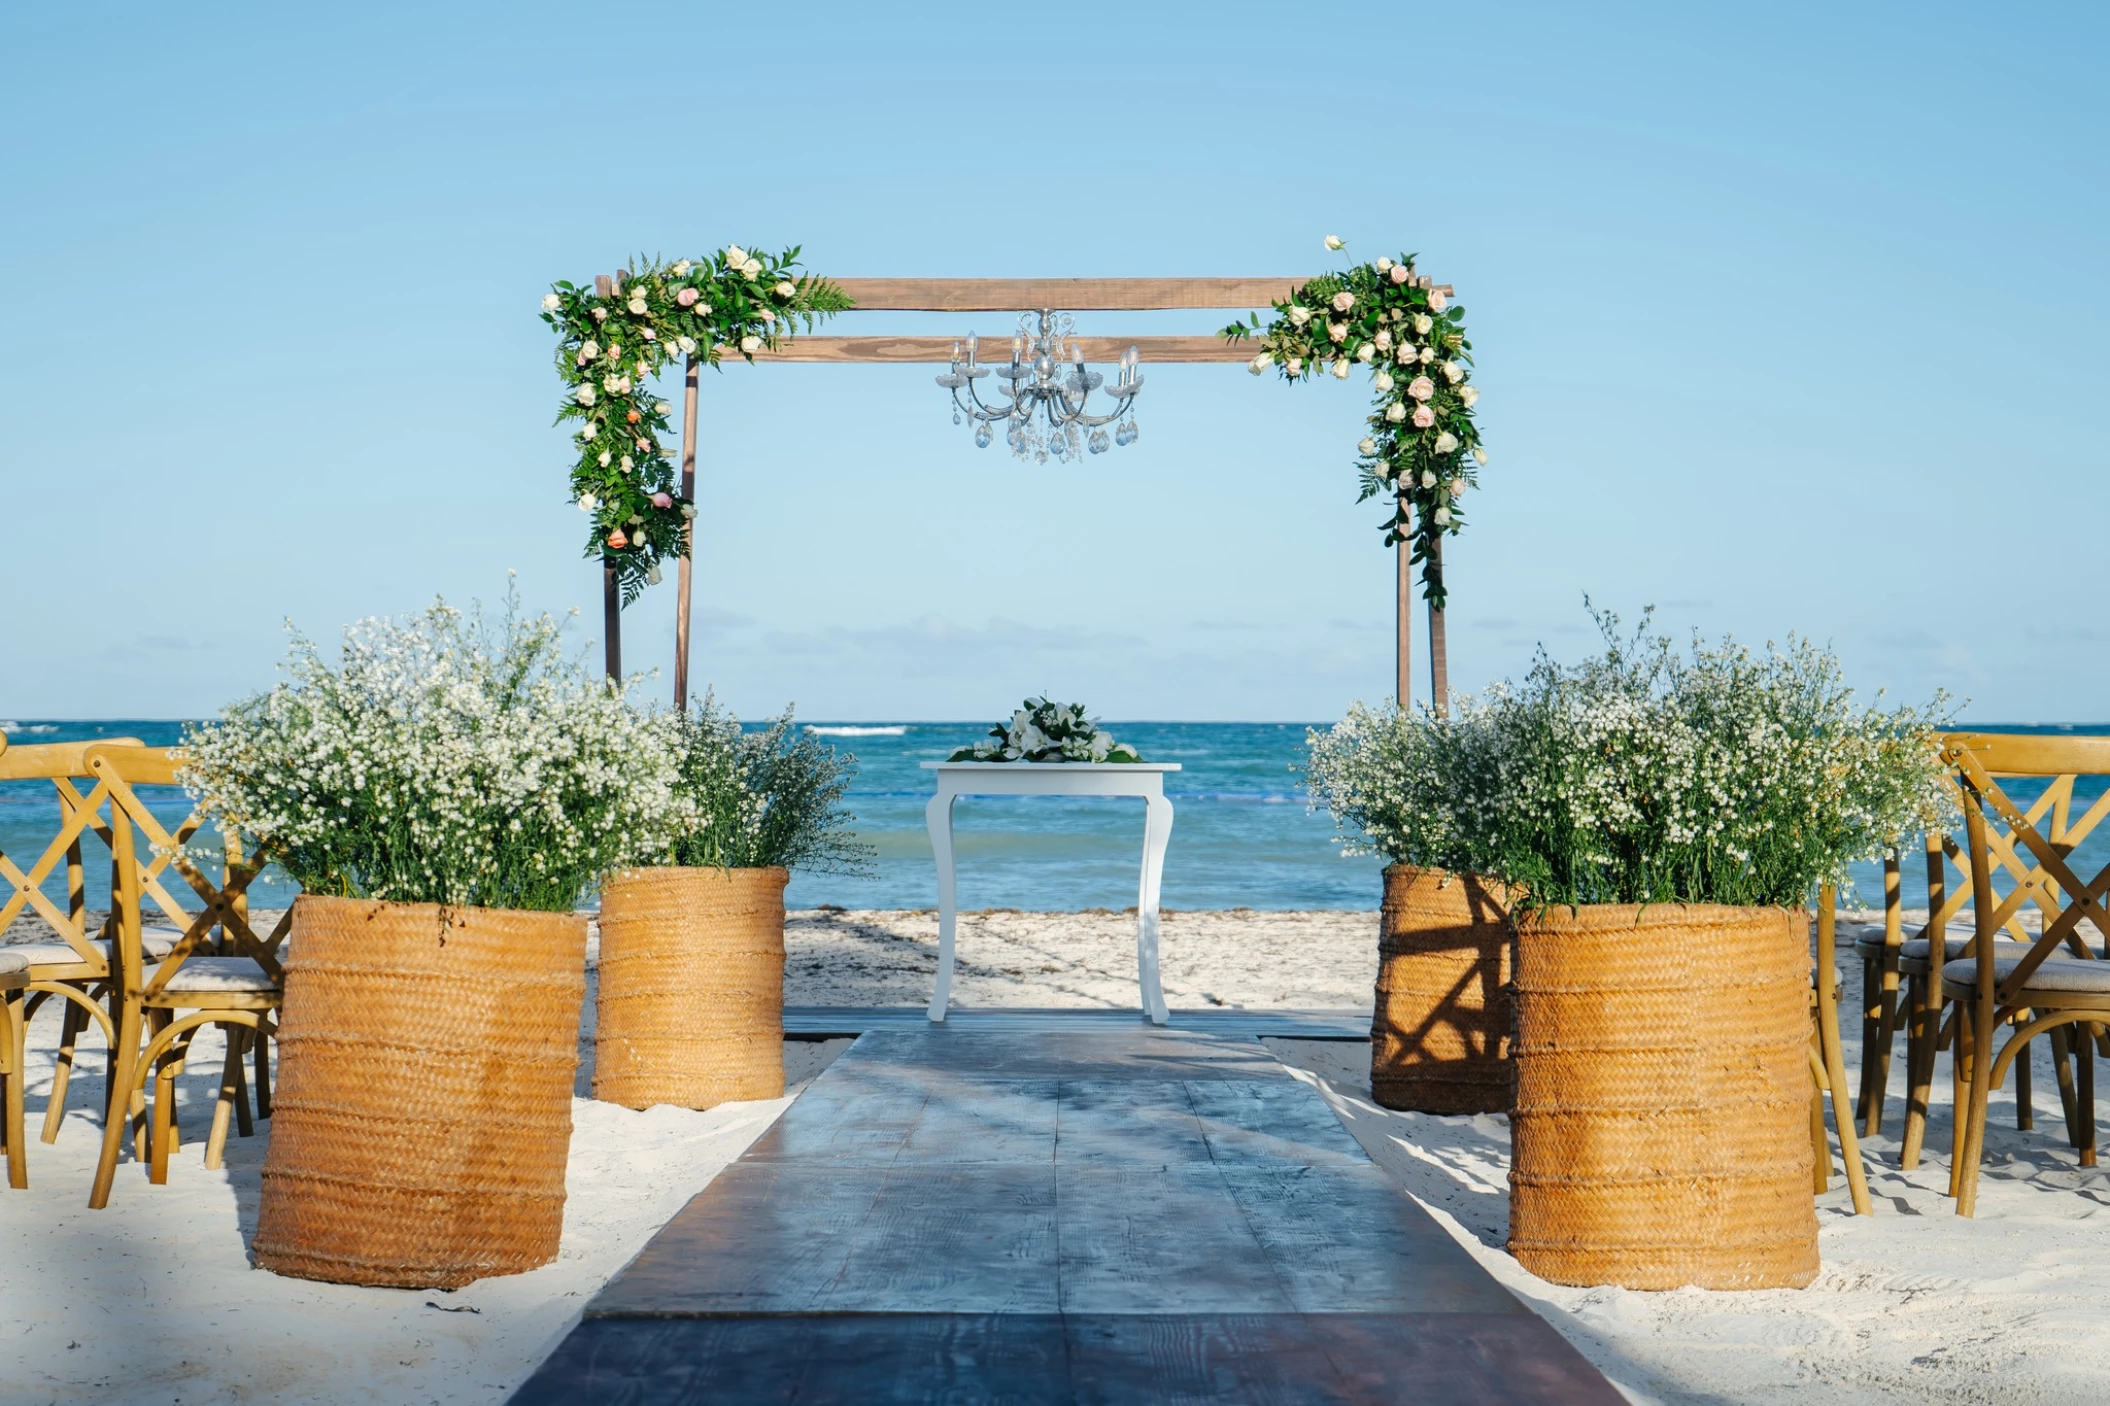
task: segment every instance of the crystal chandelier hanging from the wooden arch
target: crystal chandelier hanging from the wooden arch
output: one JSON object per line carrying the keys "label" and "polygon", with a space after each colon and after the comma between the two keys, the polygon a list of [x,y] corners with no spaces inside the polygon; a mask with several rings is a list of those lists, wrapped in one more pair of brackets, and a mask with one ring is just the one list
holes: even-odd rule
{"label": "crystal chandelier hanging from the wooden arch", "polygon": [[[1108,424],[1114,424],[1112,441],[1135,443],[1135,412],[1131,403],[1144,388],[1144,378],[1135,365],[1139,361],[1131,346],[1120,359],[1120,372],[1110,388],[1114,407],[1110,414],[1093,416],[1085,403],[1093,391],[1106,386],[1106,376],[1085,369],[1085,348],[1072,342],[1074,321],[1068,312],[1023,312],[1019,334],[1011,338],[1011,365],[987,367],[975,359],[975,336],[966,338],[966,361],[960,359],[960,342],[952,344],[952,369],[937,378],[937,384],[952,391],[952,422],[962,416],[975,422],[975,443],[990,448],[994,437],[990,426],[1004,422],[1004,441],[1017,458],[1032,458],[1044,464],[1055,458],[1082,458],[1087,450],[1106,454]],[[1002,403],[985,405],[975,382],[996,372],[996,393]],[[1068,374],[1066,374],[1068,372]],[[1009,384],[1002,384],[1009,382]],[[960,395],[966,391],[966,397]]]}

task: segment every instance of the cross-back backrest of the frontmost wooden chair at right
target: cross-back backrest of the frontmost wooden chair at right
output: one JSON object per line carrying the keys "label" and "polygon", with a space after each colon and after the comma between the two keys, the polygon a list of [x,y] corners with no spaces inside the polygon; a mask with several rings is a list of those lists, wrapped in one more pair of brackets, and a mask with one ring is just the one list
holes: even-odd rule
{"label": "cross-back backrest of the frontmost wooden chair at right", "polygon": [[[2000,984],[2007,1001],[2028,984],[2036,967],[2066,948],[2072,956],[2097,956],[2080,935],[2093,923],[2110,944],[2110,863],[2089,878],[2068,859],[2110,817],[2110,783],[2074,817],[2074,783],[2080,777],[2110,777],[2110,737],[2021,737],[2011,733],[1950,733],[1943,756],[1956,773],[1962,796],[1964,836],[1971,851],[1973,912],[1977,916],[1979,984],[1990,990],[1992,937],[2009,927],[2023,906],[2036,904],[2042,929],[2023,933],[2030,950]],[[2000,785],[2002,779],[2047,781],[2042,796],[2026,806]],[[2000,893],[2000,880],[2007,893]],[[2110,956],[2110,948],[2102,952]]]}

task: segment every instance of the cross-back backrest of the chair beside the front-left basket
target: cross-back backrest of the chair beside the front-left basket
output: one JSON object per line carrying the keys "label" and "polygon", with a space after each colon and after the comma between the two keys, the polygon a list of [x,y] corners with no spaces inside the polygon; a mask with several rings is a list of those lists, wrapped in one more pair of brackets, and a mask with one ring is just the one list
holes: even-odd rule
{"label": "cross-back backrest of the chair beside the front-left basket", "polygon": [[[279,946],[291,929],[291,910],[279,916],[279,925],[270,937],[257,937],[249,927],[249,885],[264,870],[264,851],[257,849],[255,855],[245,859],[241,836],[226,834],[226,868],[219,882],[213,882],[184,851],[184,844],[205,825],[205,815],[194,809],[175,830],[169,830],[139,800],[135,790],[139,785],[179,783],[177,766],[181,764],[181,756],[169,747],[101,745],[89,747],[87,764],[97,783],[110,794],[110,849],[114,855],[110,906],[118,929],[118,954],[124,969],[122,982],[127,994],[158,994],[186,961],[207,952],[249,956],[272,980],[283,980],[285,971],[279,965]],[[150,853],[141,853],[135,830],[146,836]],[[196,914],[177,906],[169,891],[162,889],[160,876],[171,868],[203,904]],[[171,920],[184,927],[184,935],[152,971],[146,971],[143,956],[141,912],[146,899],[154,899]],[[213,944],[215,929],[222,933],[219,944]]]}

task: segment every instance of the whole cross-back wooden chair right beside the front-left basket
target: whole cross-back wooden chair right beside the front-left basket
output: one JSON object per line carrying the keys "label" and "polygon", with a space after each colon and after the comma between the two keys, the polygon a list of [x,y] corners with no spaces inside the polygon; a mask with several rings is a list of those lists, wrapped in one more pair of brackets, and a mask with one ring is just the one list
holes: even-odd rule
{"label": "whole cross-back wooden chair right beside the front-left basket", "polygon": [[[175,830],[165,828],[139,800],[139,785],[175,785],[177,758],[160,747],[89,747],[89,773],[110,796],[112,838],[112,927],[116,929],[114,1022],[118,1091],[114,1115],[103,1125],[103,1153],[89,1193],[91,1208],[110,1203],[118,1151],[127,1121],[133,1125],[133,1157],[148,1161],[148,1180],[169,1180],[169,1157],[177,1148],[175,1081],[192,1037],[203,1026],[226,1034],[219,1098],[205,1144],[205,1165],[217,1167],[226,1146],[230,1115],[241,1136],[253,1132],[245,1053],[255,1056],[257,1117],[270,1117],[270,1037],[285,986],[279,948],[291,927],[291,912],[279,918],[270,937],[249,927],[247,893],[264,868],[264,853],[228,861],[222,882],[213,882],[184,853],[184,842],[200,828],[192,813]],[[148,851],[141,851],[139,838]],[[228,840],[230,849],[238,840]],[[238,849],[232,849],[238,853]],[[175,874],[203,904],[196,914],[177,908],[160,885]],[[143,944],[143,904],[154,899],[165,912],[184,912],[188,925],[162,956]],[[213,933],[219,933],[215,942]],[[143,1041],[143,1043],[141,1043]],[[148,1100],[146,1085],[154,1085]],[[116,1110],[124,1110],[118,1117]]]}

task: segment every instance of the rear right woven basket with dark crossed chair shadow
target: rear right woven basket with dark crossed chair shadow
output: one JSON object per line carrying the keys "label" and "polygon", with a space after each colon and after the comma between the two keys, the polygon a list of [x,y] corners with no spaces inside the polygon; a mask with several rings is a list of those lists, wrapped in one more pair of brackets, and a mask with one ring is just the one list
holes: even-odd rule
{"label": "rear right woven basket with dark crossed chair shadow", "polygon": [[1475,876],[1384,870],[1369,1091],[1386,1108],[1507,1113],[1509,908]]}

